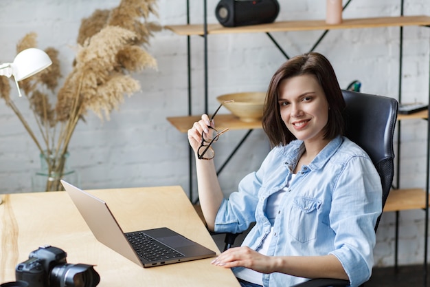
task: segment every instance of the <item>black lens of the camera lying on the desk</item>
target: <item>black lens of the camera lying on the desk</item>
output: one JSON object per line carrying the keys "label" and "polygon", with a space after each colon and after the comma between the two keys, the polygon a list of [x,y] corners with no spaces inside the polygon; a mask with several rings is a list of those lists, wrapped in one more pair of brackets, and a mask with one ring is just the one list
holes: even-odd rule
{"label": "black lens of the camera lying on the desk", "polygon": [[100,275],[92,265],[59,264],[52,268],[49,281],[51,287],[95,287],[100,282]]}

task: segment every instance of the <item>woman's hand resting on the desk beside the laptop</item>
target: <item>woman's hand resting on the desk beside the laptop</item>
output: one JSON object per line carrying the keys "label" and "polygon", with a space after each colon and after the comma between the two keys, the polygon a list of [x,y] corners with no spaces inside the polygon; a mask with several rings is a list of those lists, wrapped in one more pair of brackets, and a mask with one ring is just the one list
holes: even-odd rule
{"label": "woman's hand resting on the desk beside the laptop", "polygon": [[272,273],[275,258],[262,255],[247,246],[229,248],[211,263],[225,268],[246,267],[260,273]]}

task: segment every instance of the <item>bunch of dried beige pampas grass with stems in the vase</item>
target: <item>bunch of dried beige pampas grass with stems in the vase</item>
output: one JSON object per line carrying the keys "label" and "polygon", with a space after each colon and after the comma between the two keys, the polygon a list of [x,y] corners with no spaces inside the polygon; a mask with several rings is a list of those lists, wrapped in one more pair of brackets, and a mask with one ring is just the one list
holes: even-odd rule
{"label": "bunch of dried beige pampas grass with stems in the vase", "polygon": [[[139,81],[131,73],[157,68],[155,59],[144,49],[153,32],[161,30],[159,24],[147,21],[151,14],[158,16],[155,8],[156,0],[122,0],[112,10],[95,10],[82,19],[76,59],[62,87],[58,87],[62,77],[58,50],[53,47],[45,50],[52,65],[20,83],[40,136],[36,136],[11,100],[8,79],[0,77],[0,97],[19,117],[41,154],[46,159],[60,159],[47,160],[49,174],[60,178],[63,175],[71,136],[88,111],[101,120],[109,120],[111,111],[124,102],[124,96],[140,89]],[[37,47],[34,32],[19,41],[16,52],[30,47]],[[60,178],[47,181],[46,190],[60,190]]]}

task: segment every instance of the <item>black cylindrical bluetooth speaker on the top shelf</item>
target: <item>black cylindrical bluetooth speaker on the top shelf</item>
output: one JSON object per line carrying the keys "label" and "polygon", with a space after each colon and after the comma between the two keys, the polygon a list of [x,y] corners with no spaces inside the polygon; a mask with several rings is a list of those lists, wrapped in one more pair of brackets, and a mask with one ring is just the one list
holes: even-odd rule
{"label": "black cylindrical bluetooth speaker on the top shelf", "polygon": [[216,19],[225,27],[271,23],[278,13],[277,0],[221,0],[215,8]]}

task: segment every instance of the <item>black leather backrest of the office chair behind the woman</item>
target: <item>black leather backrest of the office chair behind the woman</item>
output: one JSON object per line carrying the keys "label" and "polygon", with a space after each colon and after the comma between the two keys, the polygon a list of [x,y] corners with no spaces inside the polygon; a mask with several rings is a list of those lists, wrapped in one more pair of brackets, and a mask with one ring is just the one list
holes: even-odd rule
{"label": "black leather backrest of the office chair behind the woman", "polygon": [[[346,133],[372,159],[381,177],[383,207],[394,177],[394,127],[397,120],[398,103],[394,98],[352,91],[342,91],[346,101],[344,118]],[[375,230],[378,228],[379,220]]]}

